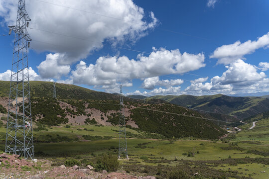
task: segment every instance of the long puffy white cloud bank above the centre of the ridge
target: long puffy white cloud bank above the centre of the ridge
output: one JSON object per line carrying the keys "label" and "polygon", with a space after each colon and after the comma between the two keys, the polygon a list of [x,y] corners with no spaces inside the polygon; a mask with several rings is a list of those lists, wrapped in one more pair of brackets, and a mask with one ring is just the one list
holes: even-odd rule
{"label": "long puffy white cloud bank above the centre of the ridge", "polygon": [[[87,65],[84,61],[77,64],[71,72],[74,84],[95,86],[112,86],[116,83],[126,83],[133,79],[152,78],[167,74],[181,74],[197,70],[205,66],[204,54],[197,55],[183,53],[178,49],[166,50],[161,48],[154,50],[149,56],[142,54],[137,60],[121,57],[100,57],[96,64]],[[159,86],[176,86],[183,83],[181,80],[158,81]]]}

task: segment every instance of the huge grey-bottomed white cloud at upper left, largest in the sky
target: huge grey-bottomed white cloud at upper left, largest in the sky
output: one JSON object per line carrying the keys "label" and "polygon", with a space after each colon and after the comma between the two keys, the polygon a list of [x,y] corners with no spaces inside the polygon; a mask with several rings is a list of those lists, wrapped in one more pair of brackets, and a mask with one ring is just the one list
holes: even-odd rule
{"label": "huge grey-bottomed white cloud at upper left, largest in the sky", "polygon": [[[17,3],[0,0],[0,16],[7,25],[15,24]],[[31,47],[65,56],[57,60],[59,65],[86,58],[104,41],[134,42],[158,23],[153,12],[145,13],[133,0],[31,0],[26,10]]]}

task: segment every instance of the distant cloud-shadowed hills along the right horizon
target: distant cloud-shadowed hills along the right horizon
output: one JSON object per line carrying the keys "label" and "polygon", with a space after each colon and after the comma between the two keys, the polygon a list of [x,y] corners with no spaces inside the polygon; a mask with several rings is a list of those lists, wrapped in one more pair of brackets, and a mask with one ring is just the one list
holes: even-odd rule
{"label": "distant cloud-shadowed hills along the right horizon", "polygon": [[240,120],[269,110],[269,99],[261,97],[232,97],[222,94],[206,96],[151,96],[172,104],[193,109],[232,115]]}

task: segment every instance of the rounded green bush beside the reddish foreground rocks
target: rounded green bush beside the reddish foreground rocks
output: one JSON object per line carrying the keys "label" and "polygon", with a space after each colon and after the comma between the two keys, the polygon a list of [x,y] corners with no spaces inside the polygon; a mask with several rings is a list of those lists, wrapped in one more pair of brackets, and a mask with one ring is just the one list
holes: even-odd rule
{"label": "rounded green bush beside the reddish foreground rocks", "polygon": [[103,154],[97,158],[95,169],[97,171],[106,170],[107,172],[116,172],[119,168],[119,164],[117,156]]}

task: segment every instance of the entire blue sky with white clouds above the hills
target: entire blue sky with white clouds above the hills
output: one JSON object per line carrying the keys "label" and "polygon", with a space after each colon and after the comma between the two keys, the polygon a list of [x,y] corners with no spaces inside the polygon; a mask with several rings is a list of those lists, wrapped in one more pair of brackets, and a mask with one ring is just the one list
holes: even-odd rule
{"label": "entire blue sky with white clouds above the hills", "polygon": [[[0,35],[16,3],[0,0]],[[31,80],[141,95],[269,93],[268,0],[26,0],[26,9]],[[0,80],[12,39],[0,36]]]}

